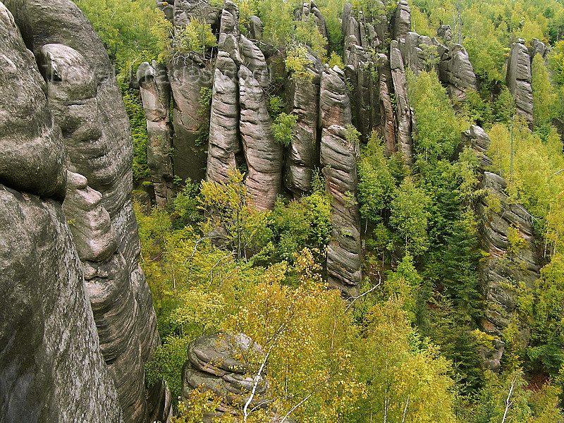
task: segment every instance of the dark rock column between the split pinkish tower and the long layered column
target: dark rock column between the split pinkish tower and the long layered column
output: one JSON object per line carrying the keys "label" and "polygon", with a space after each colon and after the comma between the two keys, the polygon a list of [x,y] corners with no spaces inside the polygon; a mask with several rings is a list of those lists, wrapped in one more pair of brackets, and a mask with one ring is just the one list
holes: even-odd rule
{"label": "dark rock column between the split pinkish tower and the long layered column", "polygon": [[317,135],[319,129],[319,82],[322,65],[317,56],[309,54],[313,63],[308,72],[312,80],[291,79],[287,85],[288,103],[292,114],[298,116],[295,135],[286,152],[284,185],[298,198],[312,189],[312,176],[319,163]]}

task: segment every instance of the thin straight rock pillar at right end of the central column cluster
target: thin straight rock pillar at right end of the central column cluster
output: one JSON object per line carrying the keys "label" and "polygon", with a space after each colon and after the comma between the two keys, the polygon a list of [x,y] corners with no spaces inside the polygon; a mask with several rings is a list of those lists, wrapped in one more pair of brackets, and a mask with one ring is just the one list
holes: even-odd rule
{"label": "thin straight rock pillar at right end of the central column cluster", "polygon": [[[398,6],[399,7],[399,6]],[[405,163],[413,164],[413,140],[411,137],[413,125],[413,113],[407,96],[407,81],[398,42],[393,40],[390,47],[390,68],[393,81],[393,90],[396,93],[396,105],[398,108],[398,150],[405,157]]]}

